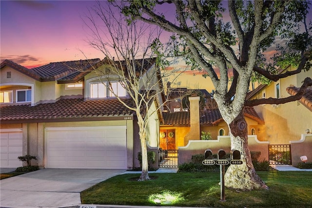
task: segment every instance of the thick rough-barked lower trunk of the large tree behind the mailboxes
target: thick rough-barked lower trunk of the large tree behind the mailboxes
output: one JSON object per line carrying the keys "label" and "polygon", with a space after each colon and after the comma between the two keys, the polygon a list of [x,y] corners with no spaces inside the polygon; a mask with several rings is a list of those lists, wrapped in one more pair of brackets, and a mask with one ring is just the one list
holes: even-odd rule
{"label": "thick rough-barked lower trunk of the large tree behind the mailboxes", "polygon": [[225,174],[225,187],[241,190],[268,189],[257,175],[248,147],[247,122],[240,113],[228,124],[231,135],[231,149],[241,152],[242,165],[231,165]]}

